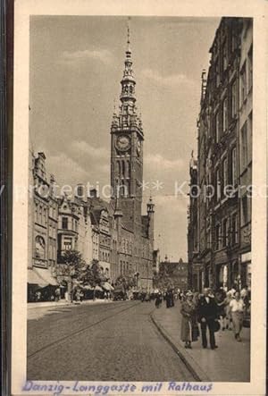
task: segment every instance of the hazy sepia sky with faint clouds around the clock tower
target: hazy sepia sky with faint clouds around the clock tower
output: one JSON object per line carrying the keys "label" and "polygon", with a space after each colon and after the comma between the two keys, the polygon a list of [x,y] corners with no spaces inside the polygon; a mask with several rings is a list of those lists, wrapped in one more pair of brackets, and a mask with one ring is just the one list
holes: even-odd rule
{"label": "hazy sepia sky with faint clouds around the clock tower", "polygon": [[[151,193],[161,259],[188,258],[188,166],[192,150],[197,153],[201,72],[219,22],[130,19],[145,136],[144,210]],[[89,182],[101,191],[110,184],[110,128],[120,104],[127,23],[121,16],[30,17],[30,146],[45,152],[59,185]]]}

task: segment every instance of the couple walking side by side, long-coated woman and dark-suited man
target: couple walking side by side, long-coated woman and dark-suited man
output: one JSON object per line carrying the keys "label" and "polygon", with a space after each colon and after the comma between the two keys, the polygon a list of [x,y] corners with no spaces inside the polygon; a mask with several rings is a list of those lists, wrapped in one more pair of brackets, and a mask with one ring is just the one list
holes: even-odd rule
{"label": "couple walking side by side, long-coated woman and dark-suited man", "polygon": [[186,301],[181,304],[181,341],[185,342],[185,348],[191,348],[191,342],[197,341],[199,330],[197,322],[200,323],[202,333],[202,346],[207,348],[206,331],[209,331],[209,342],[212,350],[218,348],[215,342],[215,331],[218,330],[217,305],[214,298],[209,295],[209,290],[204,289],[203,295],[193,302],[193,293],[188,291]]}

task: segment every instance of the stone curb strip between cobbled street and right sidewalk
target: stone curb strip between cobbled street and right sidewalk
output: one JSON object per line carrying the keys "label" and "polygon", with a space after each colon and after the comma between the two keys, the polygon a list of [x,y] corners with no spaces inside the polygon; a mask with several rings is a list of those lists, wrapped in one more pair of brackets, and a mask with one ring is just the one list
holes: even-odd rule
{"label": "stone curb strip between cobbled street and right sidewalk", "polygon": [[171,345],[172,350],[174,350],[176,354],[179,355],[180,359],[188,368],[188,371],[191,373],[191,375],[193,375],[198,382],[211,382],[211,379],[205,374],[202,368],[197,365],[195,360],[188,355],[187,351],[183,350],[178,342],[172,341],[170,334],[164,330],[161,324],[157,323],[154,318],[154,313],[152,313],[150,317],[158,332],[161,333],[163,338]]}

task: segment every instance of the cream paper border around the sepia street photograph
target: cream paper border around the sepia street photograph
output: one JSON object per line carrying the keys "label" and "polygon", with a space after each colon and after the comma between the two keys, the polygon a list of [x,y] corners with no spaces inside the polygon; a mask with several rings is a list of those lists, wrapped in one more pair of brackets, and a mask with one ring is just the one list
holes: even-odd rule
{"label": "cream paper border around the sepia street photograph", "polygon": [[[29,15],[155,15],[254,18],[254,125],[253,184],[266,185],[267,108],[267,2],[264,0],[17,0],[14,4],[13,107],[13,328],[12,394],[21,392],[26,379],[28,195],[18,198],[18,186],[29,183]],[[17,186],[17,187],[15,187]],[[23,192],[23,189],[21,190]],[[252,205],[252,325],[251,382],[214,383],[214,395],[265,394],[266,350],[266,199]],[[24,266],[23,266],[24,265]],[[161,393],[161,392],[160,392]],[[157,394],[160,394],[159,392]],[[33,394],[33,393],[31,393]],[[38,392],[38,394],[40,394]],[[65,394],[65,393],[64,393]],[[71,394],[71,393],[70,393]],[[76,393],[78,394],[78,393]],[[125,393],[128,394],[128,393]],[[133,393],[132,393],[133,394]],[[163,393],[165,396],[167,392]],[[171,392],[170,394],[174,394]],[[188,392],[188,394],[191,394]],[[195,392],[197,394],[197,392]]]}

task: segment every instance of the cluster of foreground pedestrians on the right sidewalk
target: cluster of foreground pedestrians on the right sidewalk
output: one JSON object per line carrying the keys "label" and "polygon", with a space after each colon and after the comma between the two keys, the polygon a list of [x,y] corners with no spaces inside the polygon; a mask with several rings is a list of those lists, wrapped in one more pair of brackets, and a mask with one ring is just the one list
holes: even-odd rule
{"label": "cluster of foreground pedestrians on the right sidewalk", "polygon": [[205,288],[202,294],[188,291],[182,299],[180,313],[181,341],[185,342],[185,348],[191,348],[191,342],[197,341],[199,327],[201,328],[202,346],[207,348],[207,330],[209,343],[212,350],[218,348],[214,333],[218,330],[233,330],[234,337],[241,341],[240,333],[243,326],[245,308],[250,303],[247,287],[241,292],[233,287],[225,292],[223,288],[213,293]]}

